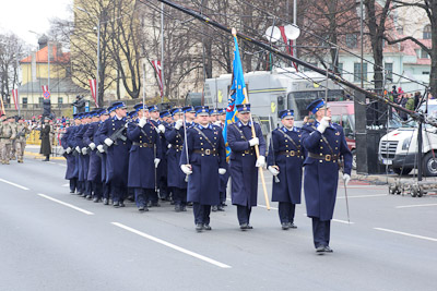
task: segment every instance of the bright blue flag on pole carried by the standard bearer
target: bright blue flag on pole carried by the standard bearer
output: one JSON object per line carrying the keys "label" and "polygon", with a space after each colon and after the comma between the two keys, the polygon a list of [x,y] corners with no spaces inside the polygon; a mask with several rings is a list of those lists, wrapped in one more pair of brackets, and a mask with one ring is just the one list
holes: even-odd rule
{"label": "bright blue flag on pole carried by the standard bearer", "polygon": [[243,73],[241,59],[239,57],[238,40],[236,36],[234,36],[234,41],[235,41],[235,48],[234,48],[234,62],[233,62],[233,80],[226,108],[226,122],[223,129],[227,160],[229,159],[231,156],[231,147],[227,144],[227,126],[231,123],[238,121],[238,118],[236,117],[237,113],[236,106],[239,104],[248,102],[244,94],[244,89],[246,88],[246,83]]}

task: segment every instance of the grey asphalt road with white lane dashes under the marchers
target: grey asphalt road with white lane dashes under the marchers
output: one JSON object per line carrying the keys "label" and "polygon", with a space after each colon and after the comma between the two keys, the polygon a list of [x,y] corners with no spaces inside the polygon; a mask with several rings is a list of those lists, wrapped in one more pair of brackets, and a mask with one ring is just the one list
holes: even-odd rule
{"label": "grey asphalt road with white lane dashes under the marchers", "polygon": [[318,256],[305,205],[298,228],[283,231],[261,189],[253,230],[239,230],[229,205],[196,233],[191,209],[140,214],[71,195],[64,170],[59,160],[0,166],[0,290],[437,290],[437,195],[352,183],[349,225],[340,187],[334,253]]}

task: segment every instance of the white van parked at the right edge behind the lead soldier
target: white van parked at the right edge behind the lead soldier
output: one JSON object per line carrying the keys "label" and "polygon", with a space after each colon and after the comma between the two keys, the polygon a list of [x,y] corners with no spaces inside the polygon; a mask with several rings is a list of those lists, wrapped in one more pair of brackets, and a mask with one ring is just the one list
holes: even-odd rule
{"label": "white van parked at the right edge behind the lead soldier", "polygon": [[[425,112],[426,105],[420,110]],[[428,119],[437,119],[437,100],[428,101]],[[437,128],[423,125],[423,158],[422,169],[424,175],[437,175]],[[417,123],[409,121],[379,141],[379,161],[388,165],[398,174],[408,174],[417,168]]]}

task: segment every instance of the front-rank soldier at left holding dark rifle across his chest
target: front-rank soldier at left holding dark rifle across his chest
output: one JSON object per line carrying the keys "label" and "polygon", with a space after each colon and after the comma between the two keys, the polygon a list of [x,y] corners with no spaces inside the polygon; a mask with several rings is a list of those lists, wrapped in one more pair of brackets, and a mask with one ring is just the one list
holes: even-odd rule
{"label": "front-rank soldier at left holding dark rifle across his chest", "polygon": [[114,102],[115,117],[107,119],[99,138],[108,147],[106,158],[107,181],[110,183],[114,207],[125,207],[128,193],[129,149],[131,143],[126,137],[126,105]]}

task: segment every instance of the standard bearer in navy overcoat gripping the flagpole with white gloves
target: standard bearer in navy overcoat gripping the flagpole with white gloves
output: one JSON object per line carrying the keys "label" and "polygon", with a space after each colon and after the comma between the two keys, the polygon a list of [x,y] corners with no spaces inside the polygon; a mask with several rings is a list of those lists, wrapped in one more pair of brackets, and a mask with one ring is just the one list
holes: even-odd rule
{"label": "standard bearer in navy overcoat gripping the flagpole with white gloves", "polygon": [[[238,122],[227,128],[227,143],[232,149],[229,171],[232,177],[232,203],[237,205],[238,221],[241,230],[252,229],[250,213],[257,206],[258,167],[265,165],[265,142],[261,126],[251,124],[250,105],[237,105]],[[256,137],[252,137],[251,126]],[[259,145],[257,158],[255,146]]]}

